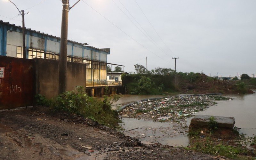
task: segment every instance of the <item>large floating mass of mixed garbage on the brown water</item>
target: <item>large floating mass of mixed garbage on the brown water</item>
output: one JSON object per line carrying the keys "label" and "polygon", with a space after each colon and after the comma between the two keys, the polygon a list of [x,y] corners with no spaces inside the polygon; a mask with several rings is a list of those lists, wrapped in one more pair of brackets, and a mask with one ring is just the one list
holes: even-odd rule
{"label": "large floating mass of mixed garbage on the brown water", "polygon": [[198,111],[216,105],[213,100],[231,100],[222,96],[175,96],[134,103],[120,114],[127,117],[178,122],[191,117]]}

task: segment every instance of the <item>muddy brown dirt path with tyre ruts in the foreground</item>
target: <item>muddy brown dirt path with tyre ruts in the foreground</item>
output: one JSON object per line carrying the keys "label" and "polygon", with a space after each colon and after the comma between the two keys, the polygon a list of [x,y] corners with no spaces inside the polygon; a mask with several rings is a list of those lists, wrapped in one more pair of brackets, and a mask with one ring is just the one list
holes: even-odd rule
{"label": "muddy brown dirt path with tyre ruts in the foreground", "polygon": [[48,108],[0,112],[0,159],[213,159],[161,144],[136,145],[89,119]]}

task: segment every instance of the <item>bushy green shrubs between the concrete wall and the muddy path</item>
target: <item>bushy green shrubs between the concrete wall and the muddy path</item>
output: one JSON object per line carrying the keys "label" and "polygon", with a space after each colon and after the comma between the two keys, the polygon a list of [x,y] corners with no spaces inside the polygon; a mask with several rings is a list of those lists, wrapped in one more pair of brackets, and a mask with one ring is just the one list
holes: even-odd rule
{"label": "bushy green shrubs between the concrete wall and the muddy path", "polygon": [[[108,88],[106,88],[106,92]],[[43,104],[46,101],[44,96],[38,96],[39,103]],[[109,127],[117,127],[120,122],[118,113],[111,109],[112,103],[119,100],[119,96],[114,95],[112,101],[108,96],[103,97],[103,101],[94,99],[85,93],[82,86],[76,86],[75,91],[67,91],[53,100],[47,100],[48,103],[44,103],[46,106],[50,106],[53,112],[65,111],[68,113],[75,113],[83,117],[88,117],[99,124],[104,124]]]}

